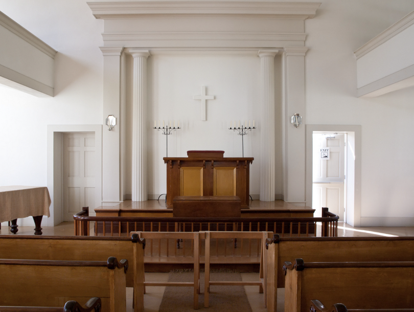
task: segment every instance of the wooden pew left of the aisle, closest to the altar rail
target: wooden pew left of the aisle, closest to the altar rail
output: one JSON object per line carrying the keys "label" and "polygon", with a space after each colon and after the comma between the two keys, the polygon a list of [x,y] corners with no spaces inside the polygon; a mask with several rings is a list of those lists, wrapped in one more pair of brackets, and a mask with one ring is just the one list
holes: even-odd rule
{"label": "wooden pew left of the aisle, closest to the altar rail", "polygon": [[[131,237],[0,235],[0,258],[106,261],[113,256],[132,261],[133,245]],[[134,285],[133,274],[127,271],[127,287]]]}

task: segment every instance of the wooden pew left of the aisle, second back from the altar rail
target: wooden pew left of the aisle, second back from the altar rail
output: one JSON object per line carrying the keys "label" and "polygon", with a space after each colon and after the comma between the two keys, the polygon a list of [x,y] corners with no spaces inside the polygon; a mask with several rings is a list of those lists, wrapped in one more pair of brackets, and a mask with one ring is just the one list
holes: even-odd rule
{"label": "wooden pew left of the aisle, second back from the altar rail", "polygon": [[63,305],[68,300],[102,300],[103,312],[126,311],[126,259],[56,261],[0,259],[0,305]]}

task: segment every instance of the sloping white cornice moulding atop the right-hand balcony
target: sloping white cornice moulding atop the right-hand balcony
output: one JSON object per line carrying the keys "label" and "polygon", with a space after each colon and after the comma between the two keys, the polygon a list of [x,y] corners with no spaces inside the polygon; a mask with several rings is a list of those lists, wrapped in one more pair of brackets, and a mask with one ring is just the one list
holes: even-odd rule
{"label": "sloping white cornice moulding atop the right-hand balcony", "polygon": [[380,33],[375,38],[371,39],[370,41],[366,42],[361,48],[354,52],[355,56],[358,58],[364,56],[368,52],[374,50],[382,43],[388,41],[389,39],[393,38],[394,36],[398,35],[408,27],[414,24],[414,11],[403,17],[393,26],[390,26],[382,33]]}

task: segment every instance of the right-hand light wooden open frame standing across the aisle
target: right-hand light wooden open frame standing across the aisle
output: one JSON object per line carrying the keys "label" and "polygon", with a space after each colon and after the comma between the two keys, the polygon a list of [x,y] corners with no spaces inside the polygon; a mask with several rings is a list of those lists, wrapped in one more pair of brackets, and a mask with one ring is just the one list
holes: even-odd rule
{"label": "right-hand light wooden open frame standing across the aisle", "polygon": [[[266,292],[267,292],[267,255],[264,256],[264,253],[267,251],[264,248],[264,243],[267,238],[273,236],[272,232],[209,232],[206,231],[203,233],[205,236],[205,263],[204,263],[204,307],[209,307],[209,295],[210,295],[210,286],[211,285],[222,285],[222,286],[259,286],[259,292],[265,294],[265,307],[266,307]],[[260,261],[260,280],[256,282],[243,282],[243,281],[210,281],[210,263],[211,263],[211,253],[210,253],[210,242],[211,239],[258,239],[261,240],[261,261]],[[225,243],[224,243],[225,244]],[[234,246],[234,244],[233,244]],[[235,248],[235,247],[234,247]],[[226,251],[224,250],[224,253]],[[216,255],[218,256],[218,255]],[[224,254],[222,257],[226,257]],[[231,259],[232,257],[227,257]]]}

